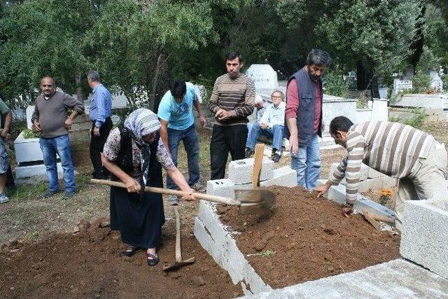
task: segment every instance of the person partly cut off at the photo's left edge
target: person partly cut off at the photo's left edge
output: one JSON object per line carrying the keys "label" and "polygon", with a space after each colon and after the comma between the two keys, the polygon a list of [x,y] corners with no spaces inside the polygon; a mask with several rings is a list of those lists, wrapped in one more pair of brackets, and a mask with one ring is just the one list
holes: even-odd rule
{"label": "person partly cut off at the photo's left edge", "polygon": [[8,159],[8,149],[6,148],[6,139],[9,137],[11,120],[13,113],[11,113],[8,105],[0,98],[0,113],[4,116],[4,123],[1,124],[0,132],[0,204],[4,204],[9,201],[5,194],[6,188],[6,176],[8,169],[10,169]]}

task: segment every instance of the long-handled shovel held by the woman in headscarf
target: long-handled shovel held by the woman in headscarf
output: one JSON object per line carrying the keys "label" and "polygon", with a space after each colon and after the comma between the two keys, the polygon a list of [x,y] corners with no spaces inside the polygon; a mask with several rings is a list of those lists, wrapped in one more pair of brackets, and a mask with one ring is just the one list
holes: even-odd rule
{"label": "long-handled shovel held by the woman in headscarf", "polygon": [[[92,183],[99,183],[102,185],[109,185],[114,187],[126,188],[124,183],[119,181],[109,181],[102,179],[91,179]],[[157,187],[145,187],[145,192],[176,195],[183,197],[183,192],[179,190],[171,190]],[[208,195],[202,193],[193,193],[193,196],[198,200],[207,200],[209,202],[218,202],[220,204],[230,204],[232,206],[238,206],[239,212],[245,213],[251,212],[264,212],[274,205],[275,194],[272,191],[264,189],[248,189],[248,190],[235,190],[235,200],[229,197]]]}

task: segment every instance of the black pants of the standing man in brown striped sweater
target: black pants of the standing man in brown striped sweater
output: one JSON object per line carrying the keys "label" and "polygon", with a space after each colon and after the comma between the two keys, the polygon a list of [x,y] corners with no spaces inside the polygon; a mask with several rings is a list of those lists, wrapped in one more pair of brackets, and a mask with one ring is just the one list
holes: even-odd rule
{"label": "black pants of the standing man in brown striped sweater", "polygon": [[228,127],[214,125],[210,142],[211,179],[224,179],[225,164],[230,152],[232,160],[244,159],[247,125]]}

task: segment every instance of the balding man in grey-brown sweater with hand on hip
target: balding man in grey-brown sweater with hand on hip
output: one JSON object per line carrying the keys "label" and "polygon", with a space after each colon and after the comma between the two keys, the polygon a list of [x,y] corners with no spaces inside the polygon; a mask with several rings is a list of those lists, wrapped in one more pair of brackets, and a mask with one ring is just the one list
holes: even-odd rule
{"label": "balding man in grey-brown sweater with hand on hip", "polygon": [[[75,169],[71,160],[69,130],[73,120],[84,112],[84,106],[64,92],[56,91],[55,81],[51,77],[41,79],[42,94],[36,98],[36,106],[31,116],[32,129],[41,132],[39,144],[43,154],[43,163],[47,169],[48,190],[42,197],[50,197],[59,192],[57,179],[56,153],[61,158],[64,169],[65,193],[63,199],[75,195]],[[71,109],[68,116],[66,109]]]}

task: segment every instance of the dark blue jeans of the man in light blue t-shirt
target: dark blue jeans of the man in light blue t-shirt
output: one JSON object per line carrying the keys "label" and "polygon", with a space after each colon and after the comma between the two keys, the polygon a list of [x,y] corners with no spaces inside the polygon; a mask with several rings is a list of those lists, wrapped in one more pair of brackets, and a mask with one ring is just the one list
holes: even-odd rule
{"label": "dark blue jeans of the man in light blue t-shirt", "polygon": [[[179,143],[183,141],[183,147],[187,152],[188,160],[188,185],[192,186],[199,181],[199,139],[196,134],[195,124],[190,125],[186,130],[174,130],[168,128],[169,152],[174,165],[177,167],[177,149]],[[174,181],[167,176],[167,187],[178,189]]]}

